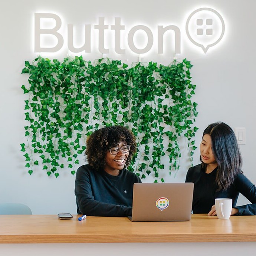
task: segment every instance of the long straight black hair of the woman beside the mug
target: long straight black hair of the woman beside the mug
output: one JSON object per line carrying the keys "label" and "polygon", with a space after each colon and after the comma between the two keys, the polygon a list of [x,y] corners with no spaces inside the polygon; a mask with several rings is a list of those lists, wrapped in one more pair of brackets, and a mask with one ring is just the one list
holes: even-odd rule
{"label": "long straight black hair of the woman beside the mug", "polygon": [[[203,132],[211,136],[211,147],[217,161],[216,184],[218,190],[229,188],[237,174],[242,173],[242,157],[232,128],[223,122],[210,124]],[[202,163],[202,168],[206,168]]]}

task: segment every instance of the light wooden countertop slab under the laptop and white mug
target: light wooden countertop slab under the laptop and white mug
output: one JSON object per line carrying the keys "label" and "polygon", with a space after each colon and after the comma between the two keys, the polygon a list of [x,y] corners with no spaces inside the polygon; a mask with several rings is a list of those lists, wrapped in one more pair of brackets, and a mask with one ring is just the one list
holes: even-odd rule
{"label": "light wooden countertop slab under the laptop and white mug", "polygon": [[[80,215],[79,215],[80,216]],[[57,215],[0,215],[0,243],[160,243],[256,241],[256,216],[192,214],[190,221],[131,222],[126,217],[59,220]]]}

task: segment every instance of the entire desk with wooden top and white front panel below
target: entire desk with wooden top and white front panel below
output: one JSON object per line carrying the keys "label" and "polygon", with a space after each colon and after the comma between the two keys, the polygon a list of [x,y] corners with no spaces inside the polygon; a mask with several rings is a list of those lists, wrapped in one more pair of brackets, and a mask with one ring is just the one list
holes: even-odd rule
{"label": "entire desk with wooden top and white front panel below", "polygon": [[219,220],[194,214],[184,222],[137,223],[125,217],[77,218],[0,215],[0,255],[233,256],[256,251],[256,216]]}

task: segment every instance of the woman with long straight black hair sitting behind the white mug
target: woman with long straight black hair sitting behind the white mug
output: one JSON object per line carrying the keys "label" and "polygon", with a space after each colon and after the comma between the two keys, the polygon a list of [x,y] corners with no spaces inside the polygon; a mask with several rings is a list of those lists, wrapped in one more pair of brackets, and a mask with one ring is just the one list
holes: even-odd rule
{"label": "woman with long straight black hair sitting behind the white mug", "polygon": [[[186,182],[194,183],[193,213],[216,215],[215,198],[232,198],[231,215],[256,215],[256,187],[241,170],[241,153],[229,125],[216,122],[204,130],[200,160],[186,177]],[[236,206],[239,193],[251,204]]]}

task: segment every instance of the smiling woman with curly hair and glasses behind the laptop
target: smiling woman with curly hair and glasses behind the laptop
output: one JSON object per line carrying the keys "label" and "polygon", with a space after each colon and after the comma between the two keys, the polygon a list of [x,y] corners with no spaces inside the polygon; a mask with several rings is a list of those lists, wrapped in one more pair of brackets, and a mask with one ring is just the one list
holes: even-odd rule
{"label": "smiling woman with curly hair and glasses behind the laptop", "polygon": [[137,146],[132,132],[122,126],[104,127],[86,141],[86,159],[76,172],[78,214],[89,216],[132,215],[133,184],[140,178],[125,169]]}

